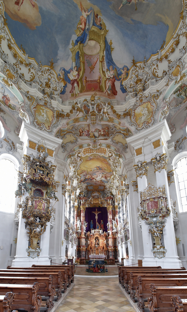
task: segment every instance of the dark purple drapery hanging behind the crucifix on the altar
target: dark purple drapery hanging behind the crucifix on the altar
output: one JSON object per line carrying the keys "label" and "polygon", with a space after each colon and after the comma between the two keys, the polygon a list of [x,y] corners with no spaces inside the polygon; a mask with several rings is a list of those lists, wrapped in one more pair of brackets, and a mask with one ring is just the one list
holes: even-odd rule
{"label": "dark purple drapery hanging behind the crucifix on the altar", "polygon": [[101,220],[103,220],[104,223],[104,228],[105,230],[103,230],[103,232],[107,232],[107,223],[108,223],[108,212],[106,207],[86,207],[86,211],[85,211],[85,221],[88,222],[87,227],[86,227],[86,232],[90,231],[90,222],[91,220],[93,220],[93,229],[96,229],[96,215],[95,213],[93,213],[92,211],[96,211],[97,208],[97,212],[101,211],[100,213],[98,213],[98,219],[97,222],[100,224]]}

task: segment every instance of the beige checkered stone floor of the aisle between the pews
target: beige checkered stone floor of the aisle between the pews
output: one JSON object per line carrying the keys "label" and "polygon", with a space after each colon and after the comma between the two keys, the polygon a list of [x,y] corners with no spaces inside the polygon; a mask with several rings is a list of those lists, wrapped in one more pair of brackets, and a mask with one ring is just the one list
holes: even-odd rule
{"label": "beige checkered stone floor of the aisle between the pews", "polygon": [[118,286],[118,277],[76,277],[75,286],[55,312],[135,312]]}

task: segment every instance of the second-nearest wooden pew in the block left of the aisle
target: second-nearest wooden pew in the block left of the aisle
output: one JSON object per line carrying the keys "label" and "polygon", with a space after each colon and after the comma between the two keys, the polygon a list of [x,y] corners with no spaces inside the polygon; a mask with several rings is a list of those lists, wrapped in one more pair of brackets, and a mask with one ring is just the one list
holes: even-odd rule
{"label": "second-nearest wooden pew in the block left of the aisle", "polygon": [[33,285],[0,284],[0,295],[7,292],[16,294],[12,309],[25,309],[28,312],[40,312],[42,298],[38,295],[39,283]]}

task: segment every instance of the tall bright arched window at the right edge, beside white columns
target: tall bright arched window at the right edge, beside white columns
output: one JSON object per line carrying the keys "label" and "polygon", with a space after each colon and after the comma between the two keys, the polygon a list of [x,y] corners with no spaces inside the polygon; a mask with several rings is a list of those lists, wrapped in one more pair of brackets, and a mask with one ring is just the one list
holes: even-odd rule
{"label": "tall bright arched window at the right edge, beside white columns", "polygon": [[176,162],[175,173],[180,193],[181,212],[187,211],[187,157]]}

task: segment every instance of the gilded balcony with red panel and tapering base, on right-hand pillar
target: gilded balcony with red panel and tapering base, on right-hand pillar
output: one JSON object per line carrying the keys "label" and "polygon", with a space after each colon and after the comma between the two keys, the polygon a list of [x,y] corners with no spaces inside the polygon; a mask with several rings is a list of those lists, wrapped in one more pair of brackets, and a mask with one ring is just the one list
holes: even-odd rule
{"label": "gilded balcony with red panel and tapering base, on right-hand pillar", "polygon": [[166,218],[170,215],[167,206],[165,186],[155,187],[148,184],[143,192],[140,192],[139,218],[149,226],[149,232],[155,240],[152,253],[158,259],[163,258],[167,250],[161,245],[161,233],[166,224]]}

